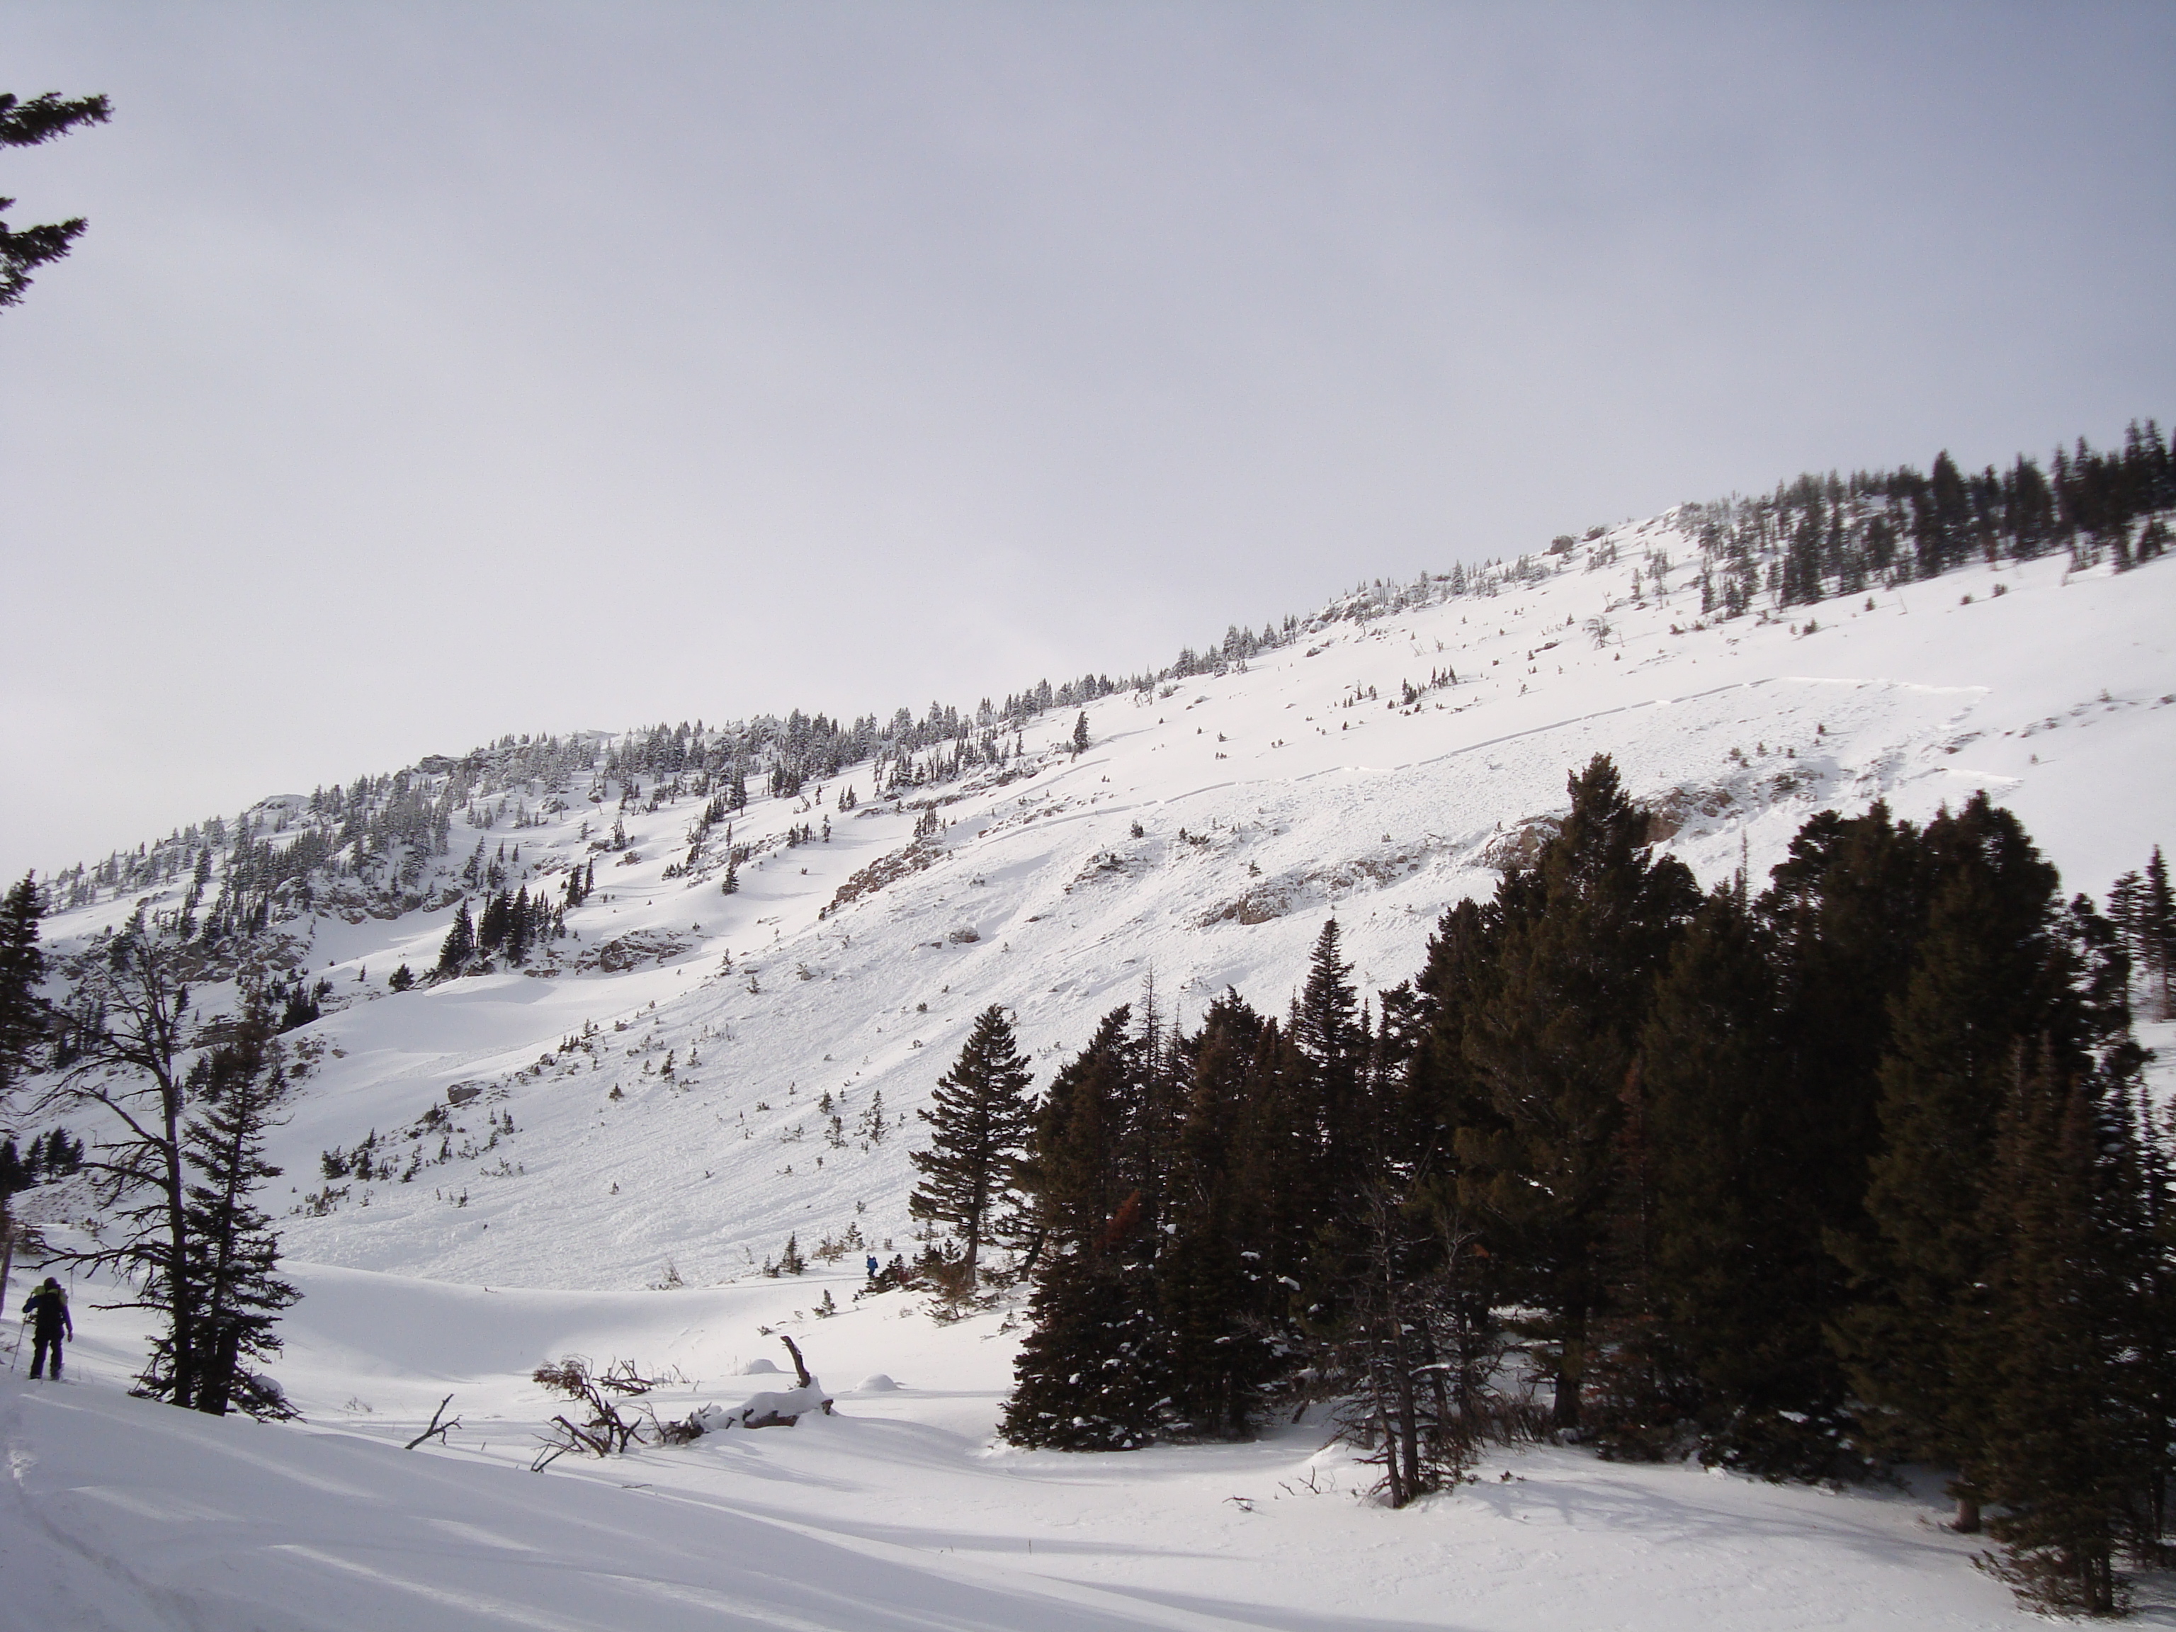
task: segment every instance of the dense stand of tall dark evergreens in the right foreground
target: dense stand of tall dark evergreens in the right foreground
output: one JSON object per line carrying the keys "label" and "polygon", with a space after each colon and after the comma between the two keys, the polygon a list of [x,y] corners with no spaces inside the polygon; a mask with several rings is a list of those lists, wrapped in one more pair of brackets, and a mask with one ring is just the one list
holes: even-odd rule
{"label": "dense stand of tall dark evergreens in the right foreground", "polygon": [[1985,796],[1823,812],[1769,888],[1702,894],[1606,757],[1569,792],[1373,1005],[1330,923],[1282,1021],[1101,1021],[1016,1169],[1005,1434],[1227,1436],[1332,1393],[1393,1501],[1504,1427],[1767,1475],[1926,1460],[2024,1591],[2111,1606],[2176,1401],[2169,1129],[2130,1036],[2156,910],[2065,899]]}

